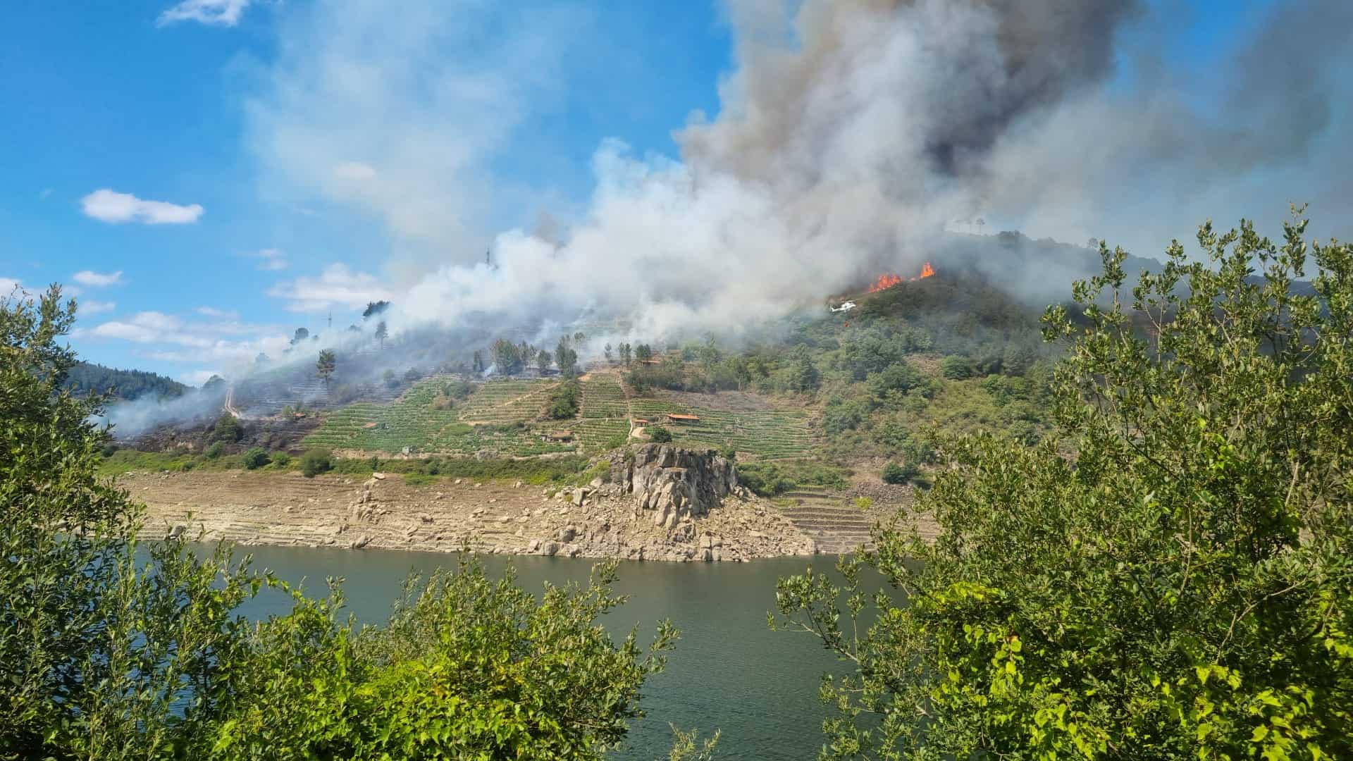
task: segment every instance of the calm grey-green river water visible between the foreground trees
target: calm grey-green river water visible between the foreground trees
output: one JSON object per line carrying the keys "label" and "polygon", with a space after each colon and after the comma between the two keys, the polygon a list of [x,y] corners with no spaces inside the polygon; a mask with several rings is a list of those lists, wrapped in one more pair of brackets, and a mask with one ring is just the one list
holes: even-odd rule
{"label": "calm grey-green river water visible between the foreground trees", "polygon": [[[384,622],[410,570],[429,573],[455,565],[455,555],[432,552],[250,547],[256,569],[272,569],[288,582],[306,580],[315,594],[325,577],[344,577],[349,609],[363,622]],[[511,562],[525,589],[543,584],[586,584],[591,561],[567,558],[484,557],[490,574]],[[682,631],[667,670],[644,685],[647,716],[630,726],[617,758],[666,758],[668,722],[697,727],[701,735],[723,730],[720,758],[812,758],[823,745],[827,707],[817,699],[821,674],[838,670],[836,658],[806,634],[773,632],[766,612],[774,608],[775,578],[802,573],[812,562],[828,569],[833,558],[758,561],[754,563],[621,563],[617,592],[626,605],[603,623],[622,636],[640,624],[640,642],[652,639],[653,623],[670,617]],[[245,613],[284,613],[280,594],[260,596]]]}

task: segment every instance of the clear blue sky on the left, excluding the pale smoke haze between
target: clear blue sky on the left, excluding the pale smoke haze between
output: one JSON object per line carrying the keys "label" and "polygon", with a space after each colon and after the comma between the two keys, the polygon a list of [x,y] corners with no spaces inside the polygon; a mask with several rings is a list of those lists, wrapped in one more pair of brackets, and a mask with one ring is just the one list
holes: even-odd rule
{"label": "clear blue sky on the left, excluding the pale smoke haze between", "polygon": [[[249,99],[272,87],[285,35],[313,9],[295,0],[252,3],[241,4],[238,19],[214,19],[230,4],[202,5],[206,23],[162,23],[172,1],[22,3],[0,27],[0,282],[76,287],[85,306],[73,345],[84,357],[199,382],[229,364],[226,355],[211,356],[208,341],[239,351],[296,325],[322,328],[330,306],[336,325],[360,311],[333,303],[298,313],[288,309],[294,299],[269,295],[281,292],[279,284],[318,278],[334,264],[379,272],[391,257],[380,219],[304,188],[277,192],[268,157],[248,144]],[[570,199],[587,192],[589,161],[605,137],[621,134],[639,152],[671,154],[670,133],[687,112],[717,107],[729,54],[717,9],[641,5],[649,7],[521,3],[476,11],[486,31],[517,24],[517,14],[553,12],[576,37],[563,43],[567,72],[551,73],[543,85],[559,88],[556,103],[515,127],[488,158],[497,181],[515,186],[526,200],[495,206],[464,246],[448,246],[460,251],[440,252],[448,260],[482,257],[494,229],[529,226],[543,209],[567,211]],[[83,207],[99,190],[202,211],[179,211],[191,221],[177,222],[101,221]],[[80,283],[77,272],[104,278],[85,275]],[[100,284],[112,274],[120,275]],[[133,328],[93,334],[100,324],[133,325],[146,311],[164,320],[134,325],[147,328],[145,336]],[[168,333],[172,324],[183,343],[129,340]]]}

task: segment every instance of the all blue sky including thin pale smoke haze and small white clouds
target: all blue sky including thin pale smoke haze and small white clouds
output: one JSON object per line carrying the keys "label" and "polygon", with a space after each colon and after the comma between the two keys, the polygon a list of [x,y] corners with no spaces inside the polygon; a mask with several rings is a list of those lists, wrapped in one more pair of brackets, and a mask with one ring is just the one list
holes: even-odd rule
{"label": "all blue sky including thin pale smoke haze and small white clouds", "polygon": [[[1206,79],[1266,5],[1162,0],[1173,28],[1130,34]],[[84,357],[200,383],[584,213],[606,138],[676,157],[733,65],[704,0],[20,3],[0,27],[0,286],[70,286]]]}

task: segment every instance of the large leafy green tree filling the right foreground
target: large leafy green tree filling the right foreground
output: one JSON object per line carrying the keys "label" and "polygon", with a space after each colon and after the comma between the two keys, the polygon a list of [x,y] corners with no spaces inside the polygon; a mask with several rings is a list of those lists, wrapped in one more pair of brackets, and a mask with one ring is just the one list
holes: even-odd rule
{"label": "large leafy green tree filling the right foreground", "polygon": [[856,666],[824,758],[1353,757],[1353,248],[1304,229],[1204,226],[1127,303],[1101,244],[1045,318],[1055,435],[940,441],[932,544],[781,581],[775,624]]}

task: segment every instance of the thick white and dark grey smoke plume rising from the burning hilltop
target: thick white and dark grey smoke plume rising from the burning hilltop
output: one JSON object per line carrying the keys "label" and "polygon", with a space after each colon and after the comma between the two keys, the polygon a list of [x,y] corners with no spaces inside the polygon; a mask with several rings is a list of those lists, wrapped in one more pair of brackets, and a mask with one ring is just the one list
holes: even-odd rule
{"label": "thick white and dark grey smoke plume rising from the burning hilltop", "polygon": [[[1300,164],[1316,153],[1349,167],[1346,145],[1321,139],[1346,121],[1327,69],[1348,56],[1335,43],[1350,7],[1288,4],[1223,64],[1229,89],[1200,93],[1149,70],[1155,50],[1123,42],[1145,14],[1130,0],[733,1],[737,68],[717,118],[694,114],[675,134],[679,161],[606,142],[590,207],[557,241],[499,234],[492,267],[441,267],[399,313],[727,332],[879,271],[934,259],[943,272],[954,219],[1111,237],[1147,256],[1197,223],[1191,199],[1218,200],[1203,215],[1272,219],[1292,183],[1260,184],[1264,172],[1310,179]],[[1335,60],[1311,65],[1303,47]],[[1111,92],[1123,65],[1132,84]],[[1211,106],[1189,106],[1200,96]],[[1295,192],[1344,211],[1337,190]]]}

